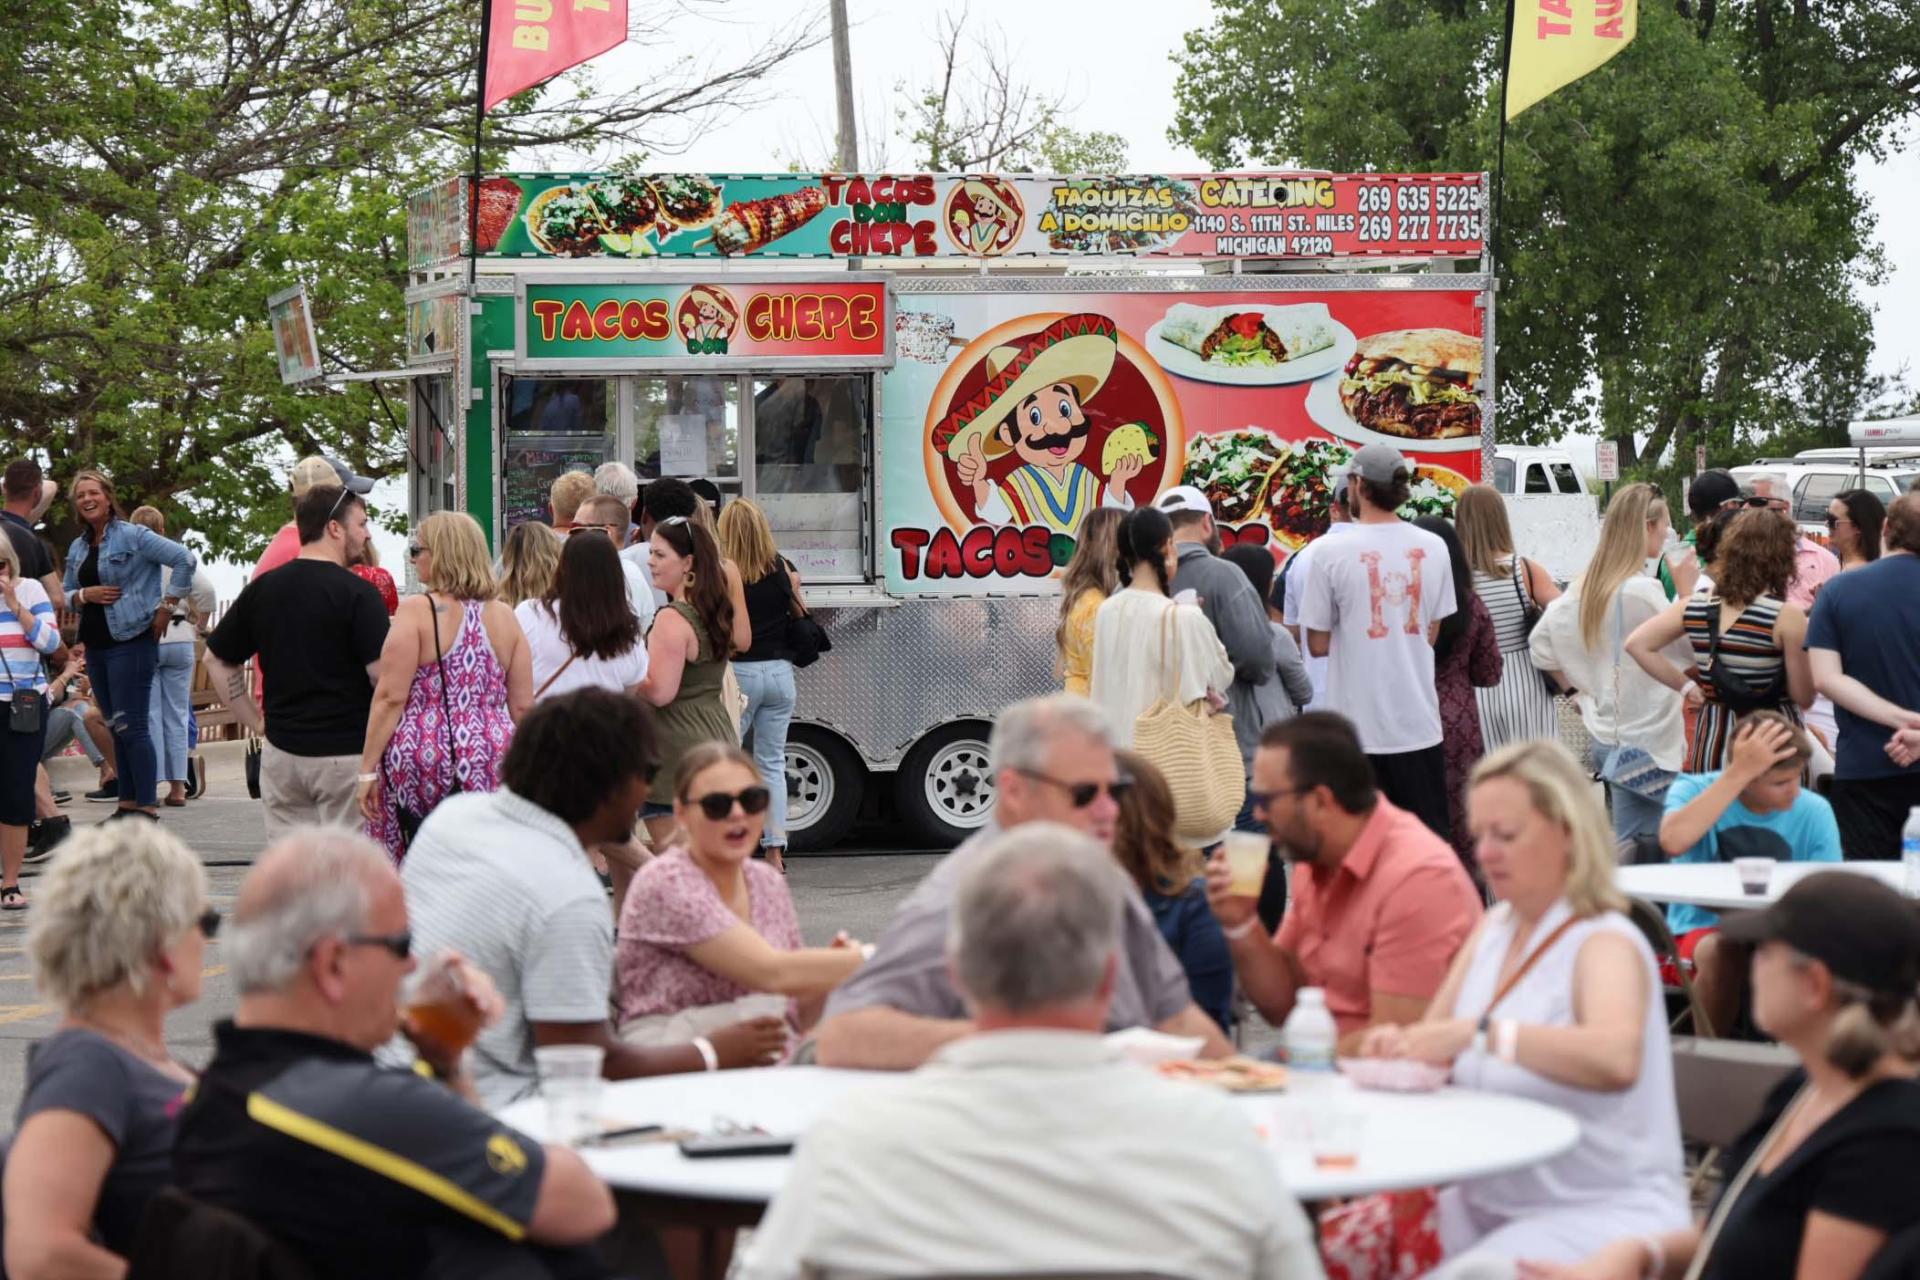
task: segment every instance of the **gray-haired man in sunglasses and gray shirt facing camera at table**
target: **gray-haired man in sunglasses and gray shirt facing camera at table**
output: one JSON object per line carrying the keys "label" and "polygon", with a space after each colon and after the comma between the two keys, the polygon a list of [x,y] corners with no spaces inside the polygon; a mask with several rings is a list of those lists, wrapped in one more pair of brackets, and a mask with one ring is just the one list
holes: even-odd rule
{"label": "gray-haired man in sunglasses and gray shirt facing camera at table", "polygon": [[[993,819],[927,873],[895,912],[874,958],[828,998],[818,1031],[824,1065],[910,1071],[973,1031],[947,965],[947,938],[960,877],[1002,831],[1050,821],[1100,846],[1112,842],[1119,796],[1133,779],[1119,771],[1098,706],[1069,693],[1016,702],[993,727],[991,754],[998,791]],[[1156,1027],[1200,1036],[1208,1055],[1233,1052],[1194,1006],[1181,961],[1137,892],[1125,896],[1119,952],[1108,1007],[1116,1031]]]}

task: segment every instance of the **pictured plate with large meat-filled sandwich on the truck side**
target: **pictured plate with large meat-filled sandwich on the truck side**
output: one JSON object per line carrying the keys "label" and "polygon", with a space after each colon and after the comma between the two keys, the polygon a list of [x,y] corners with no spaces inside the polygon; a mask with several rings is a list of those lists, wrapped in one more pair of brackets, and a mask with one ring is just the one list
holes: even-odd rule
{"label": "pictured plate with large meat-filled sandwich on the truck side", "polygon": [[1308,390],[1308,416],[1342,439],[1421,453],[1480,447],[1480,340],[1396,328],[1354,345],[1340,378]]}

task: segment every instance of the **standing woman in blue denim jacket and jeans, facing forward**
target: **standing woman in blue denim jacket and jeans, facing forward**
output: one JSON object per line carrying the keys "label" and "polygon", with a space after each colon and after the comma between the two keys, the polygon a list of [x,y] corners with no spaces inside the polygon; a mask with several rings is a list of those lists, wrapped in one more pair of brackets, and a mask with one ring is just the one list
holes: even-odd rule
{"label": "standing woman in blue denim jacket and jeans, facing forward", "polygon": [[[129,524],[113,499],[113,482],[98,470],[77,472],[67,495],[81,518],[81,535],[67,549],[67,603],[79,608],[86,674],[113,729],[119,814],[138,810],[157,818],[148,702],[159,635],[194,585],[194,553]],[[171,570],[165,599],[163,564]]]}

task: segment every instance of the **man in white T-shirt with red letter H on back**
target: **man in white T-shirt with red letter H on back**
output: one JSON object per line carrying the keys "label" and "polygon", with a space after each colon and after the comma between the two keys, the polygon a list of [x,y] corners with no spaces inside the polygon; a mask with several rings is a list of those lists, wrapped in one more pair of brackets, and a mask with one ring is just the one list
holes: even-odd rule
{"label": "man in white T-shirt with red letter H on back", "polygon": [[1315,704],[1354,722],[1386,798],[1446,837],[1432,643],[1453,612],[1453,570],[1446,543],[1396,514],[1413,480],[1398,449],[1363,447],[1348,478],[1352,532],[1315,551],[1300,603],[1308,652],[1327,658]]}

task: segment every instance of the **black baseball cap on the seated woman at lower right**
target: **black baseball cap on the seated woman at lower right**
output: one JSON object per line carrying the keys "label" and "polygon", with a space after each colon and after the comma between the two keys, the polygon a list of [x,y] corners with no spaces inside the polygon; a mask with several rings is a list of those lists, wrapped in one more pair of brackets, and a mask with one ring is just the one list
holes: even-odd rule
{"label": "black baseball cap on the seated woman at lower right", "polygon": [[1816,871],[1761,912],[1726,915],[1728,942],[1786,942],[1874,992],[1920,988],[1920,910],[1857,871]]}

